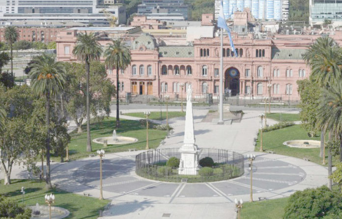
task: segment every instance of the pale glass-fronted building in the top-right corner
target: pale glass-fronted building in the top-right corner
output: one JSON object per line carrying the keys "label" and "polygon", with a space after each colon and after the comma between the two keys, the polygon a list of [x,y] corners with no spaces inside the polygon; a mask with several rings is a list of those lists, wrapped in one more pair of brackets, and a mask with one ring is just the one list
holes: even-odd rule
{"label": "pale glass-fronted building in the top-right corner", "polygon": [[342,0],[310,0],[310,24],[320,25],[325,19],[342,25]]}

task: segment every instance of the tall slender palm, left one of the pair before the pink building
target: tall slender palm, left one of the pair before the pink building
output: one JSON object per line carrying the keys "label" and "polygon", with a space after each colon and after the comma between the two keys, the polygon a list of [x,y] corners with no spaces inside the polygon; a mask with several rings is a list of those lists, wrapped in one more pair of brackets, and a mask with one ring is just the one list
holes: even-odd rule
{"label": "tall slender palm, left one of the pair before the pink building", "polygon": [[77,59],[85,62],[85,74],[86,74],[86,151],[91,152],[91,140],[90,140],[90,105],[89,105],[89,68],[90,62],[100,59],[102,54],[102,47],[97,41],[97,37],[94,33],[80,33],[77,36],[76,45],[72,53]]}

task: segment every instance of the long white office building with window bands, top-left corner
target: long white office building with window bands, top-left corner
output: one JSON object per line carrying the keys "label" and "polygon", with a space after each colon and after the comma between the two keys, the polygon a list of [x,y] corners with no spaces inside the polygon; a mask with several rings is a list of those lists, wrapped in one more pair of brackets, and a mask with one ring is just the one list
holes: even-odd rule
{"label": "long white office building with window bands, top-left corner", "polygon": [[73,20],[104,24],[108,22],[103,9],[112,13],[118,24],[126,23],[122,4],[109,6],[97,0],[0,0],[0,20]]}

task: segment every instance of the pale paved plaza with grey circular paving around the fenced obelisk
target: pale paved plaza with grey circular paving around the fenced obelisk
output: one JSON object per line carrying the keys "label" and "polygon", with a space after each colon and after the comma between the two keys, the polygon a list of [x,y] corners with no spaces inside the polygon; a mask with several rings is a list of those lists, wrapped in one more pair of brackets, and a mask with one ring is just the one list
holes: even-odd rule
{"label": "pale paved plaza with grey circular paving around the fenced obelisk", "polygon": [[[125,110],[133,112],[139,110]],[[151,110],[152,111],[152,110]],[[155,109],[155,111],[158,111]],[[113,112],[114,114],[115,112]],[[253,153],[253,193],[258,198],[281,198],[296,190],[325,185],[327,170],[313,162],[277,154],[253,152],[259,128],[258,111],[245,111],[240,123],[225,125],[202,122],[208,110],[194,110],[196,143],[200,148],[221,148]],[[122,116],[121,118],[127,118]],[[137,119],[137,118],[130,118]],[[275,121],[268,120],[269,124]],[[184,138],[184,118],[173,118],[171,135],[159,148],[180,147]],[[106,219],[234,219],[234,199],[249,201],[250,170],[245,160],[243,176],[212,183],[167,183],[135,174],[135,156],[142,151],[106,154],[103,162],[104,198],[111,199],[103,212]],[[26,177],[15,170],[16,177]],[[13,177],[13,176],[12,176]],[[14,178],[16,178],[14,177]],[[81,195],[99,197],[99,158],[52,164],[52,179],[59,188]]]}

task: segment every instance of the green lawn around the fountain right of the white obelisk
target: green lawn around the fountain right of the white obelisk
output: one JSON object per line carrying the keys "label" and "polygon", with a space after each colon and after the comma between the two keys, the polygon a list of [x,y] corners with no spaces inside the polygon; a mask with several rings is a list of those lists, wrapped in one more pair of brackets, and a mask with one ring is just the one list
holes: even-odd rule
{"label": "green lawn around the fountain right of the white obelisk", "polygon": [[[278,130],[263,132],[262,134],[262,149],[264,151],[273,151],[280,155],[294,156],[298,158],[308,158],[310,161],[313,161],[318,164],[322,164],[322,158],[319,157],[319,148],[290,148],[283,143],[289,140],[320,140],[320,137],[308,137],[307,131],[302,128],[301,125],[292,125],[289,127],[281,128]],[[255,151],[259,151],[260,149],[260,133],[258,135],[258,139],[256,142]],[[326,164],[328,161],[328,153],[326,151]],[[333,158],[333,164],[337,162],[338,159],[336,157]]]}

